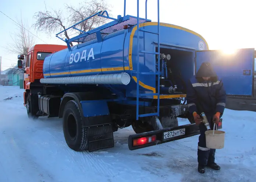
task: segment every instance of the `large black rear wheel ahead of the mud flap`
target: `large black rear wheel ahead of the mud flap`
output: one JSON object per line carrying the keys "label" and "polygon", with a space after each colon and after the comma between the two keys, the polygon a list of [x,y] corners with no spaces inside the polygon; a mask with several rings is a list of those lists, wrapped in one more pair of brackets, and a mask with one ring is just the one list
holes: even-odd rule
{"label": "large black rear wheel ahead of the mud flap", "polygon": [[87,129],[82,127],[82,116],[75,100],[68,101],[63,112],[63,132],[67,145],[75,151],[88,148]]}

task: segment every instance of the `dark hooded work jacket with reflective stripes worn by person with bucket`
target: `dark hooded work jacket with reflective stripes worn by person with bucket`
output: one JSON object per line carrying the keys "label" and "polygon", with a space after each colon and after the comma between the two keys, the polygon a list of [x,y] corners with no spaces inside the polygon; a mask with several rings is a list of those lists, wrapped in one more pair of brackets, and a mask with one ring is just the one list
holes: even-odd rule
{"label": "dark hooded work jacket with reflective stripes worn by person with bucket", "polygon": [[[205,81],[202,77],[211,77]],[[226,103],[226,91],[223,82],[218,78],[216,72],[209,62],[200,66],[195,76],[189,79],[186,95],[188,110],[190,113],[205,112],[212,117],[216,112],[222,115]],[[200,106],[198,106],[200,105]],[[200,110],[200,107],[203,109]]]}

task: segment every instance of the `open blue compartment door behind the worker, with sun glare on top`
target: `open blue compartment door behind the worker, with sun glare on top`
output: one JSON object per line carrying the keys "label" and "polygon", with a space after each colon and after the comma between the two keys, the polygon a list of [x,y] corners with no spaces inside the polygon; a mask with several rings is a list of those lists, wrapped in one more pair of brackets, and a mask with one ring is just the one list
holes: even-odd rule
{"label": "open blue compartment door behind the worker, with sun glare on top", "polygon": [[203,62],[210,62],[223,80],[227,95],[253,96],[254,54],[254,48],[239,49],[234,54],[196,51],[196,72]]}

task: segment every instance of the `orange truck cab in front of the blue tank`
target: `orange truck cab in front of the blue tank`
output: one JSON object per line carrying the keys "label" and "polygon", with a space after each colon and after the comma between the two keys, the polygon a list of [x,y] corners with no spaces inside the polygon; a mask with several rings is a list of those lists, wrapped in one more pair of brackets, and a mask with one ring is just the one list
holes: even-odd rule
{"label": "orange truck cab in front of the blue tank", "polygon": [[43,78],[43,61],[46,56],[67,48],[67,45],[54,45],[54,44],[36,44],[31,47],[27,55],[18,55],[18,68],[23,68],[22,60],[26,56],[26,65],[24,68],[24,106],[26,97],[31,85],[40,84],[39,80]]}

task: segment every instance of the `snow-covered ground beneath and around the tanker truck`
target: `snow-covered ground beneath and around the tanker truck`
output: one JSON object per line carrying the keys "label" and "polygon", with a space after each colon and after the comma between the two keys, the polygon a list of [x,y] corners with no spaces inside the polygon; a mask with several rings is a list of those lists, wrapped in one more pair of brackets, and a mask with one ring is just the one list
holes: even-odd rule
{"label": "snow-covered ground beneath and around the tanker truck", "polygon": [[114,148],[75,152],[61,119],[28,119],[23,91],[0,86],[0,182],[256,181],[256,112],[225,110],[225,146],[216,151],[221,170],[199,174],[198,135],[130,151],[128,127],[114,132]]}

